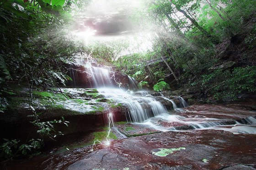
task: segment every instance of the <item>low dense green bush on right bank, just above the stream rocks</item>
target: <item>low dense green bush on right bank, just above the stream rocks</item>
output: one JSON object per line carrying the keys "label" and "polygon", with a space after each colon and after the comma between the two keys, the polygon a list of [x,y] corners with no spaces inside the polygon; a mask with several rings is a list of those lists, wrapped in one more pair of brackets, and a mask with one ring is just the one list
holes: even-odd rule
{"label": "low dense green bush on right bank, just above the stream rocks", "polygon": [[201,76],[200,86],[216,100],[237,100],[243,93],[255,92],[256,67],[237,67],[232,71],[214,70]]}

